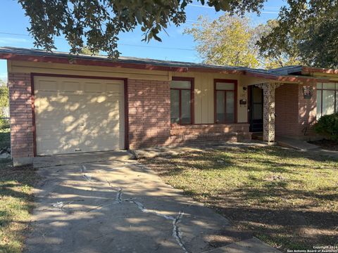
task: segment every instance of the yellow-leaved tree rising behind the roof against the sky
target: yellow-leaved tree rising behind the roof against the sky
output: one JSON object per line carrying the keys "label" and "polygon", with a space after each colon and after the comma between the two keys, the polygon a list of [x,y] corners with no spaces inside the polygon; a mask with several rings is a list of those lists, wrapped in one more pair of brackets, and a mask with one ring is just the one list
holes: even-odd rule
{"label": "yellow-leaved tree rising behind the roof against the sky", "polygon": [[196,50],[204,63],[244,67],[259,64],[253,32],[248,18],[228,14],[213,21],[200,16],[192,28],[184,30],[198,42]]}

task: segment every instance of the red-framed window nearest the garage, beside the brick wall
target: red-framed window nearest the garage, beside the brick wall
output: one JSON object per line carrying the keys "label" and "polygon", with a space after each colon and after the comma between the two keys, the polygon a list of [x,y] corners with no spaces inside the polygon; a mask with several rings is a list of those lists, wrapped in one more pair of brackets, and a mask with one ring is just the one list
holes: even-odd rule
{"label": "red-framed window nearest the garage, beside the brick wall", "polygon": [[194,79],[173,77],[170,84],[171,124],[193,124]]}

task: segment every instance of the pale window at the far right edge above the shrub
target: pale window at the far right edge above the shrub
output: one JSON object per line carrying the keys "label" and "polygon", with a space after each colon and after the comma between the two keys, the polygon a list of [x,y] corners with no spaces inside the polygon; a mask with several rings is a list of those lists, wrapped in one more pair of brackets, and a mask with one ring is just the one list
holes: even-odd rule
{"label": "pale window at the far right edge above the shrub", "polygon": [[317,84],[317,119],[338,112],[338,83]]}

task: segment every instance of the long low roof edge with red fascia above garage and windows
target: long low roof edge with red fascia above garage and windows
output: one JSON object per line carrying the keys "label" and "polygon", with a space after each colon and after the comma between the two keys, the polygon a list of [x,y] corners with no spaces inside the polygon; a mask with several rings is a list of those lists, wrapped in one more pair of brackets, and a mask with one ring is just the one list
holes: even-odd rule
{"label": "long low roof edge with red fascia above garage and windows", "polygon": [[246,74],[251,77],[262,77],[276,81],[291,81],[311,78],[292,75],[302,70],[301,66],[280,67],[274,70],[253,69],[250,67],[233,67],[223,65],[207,65],[204,63],[186,63],[170,60],[155,60],[149,58],[134,58],[121,56],[110,59],[107,56],[88,56],[83,54],[70,54],[65,52],[47,52],[39,49],[0,47],[0,58],[8,60],[29,60],[51,63],[67,63],[80,65],[99,65],[108,67],[130,67],[146,70],[165,70],[175,72],[201,71],[220,72],[227,74]]}

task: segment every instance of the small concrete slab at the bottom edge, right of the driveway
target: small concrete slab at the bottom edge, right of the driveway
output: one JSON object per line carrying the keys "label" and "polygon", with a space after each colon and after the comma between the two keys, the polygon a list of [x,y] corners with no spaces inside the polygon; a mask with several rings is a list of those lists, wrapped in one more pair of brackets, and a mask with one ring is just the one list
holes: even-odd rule
{"label": "small concrete slab at the bottom edge, right of the driveway", "polygon": [[230,245],[211,249],[203,253],[280,253],[279,250],[270,247],[257,238],[242,240]]}

